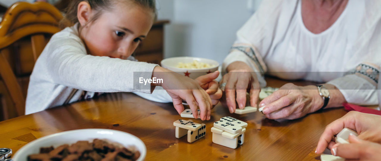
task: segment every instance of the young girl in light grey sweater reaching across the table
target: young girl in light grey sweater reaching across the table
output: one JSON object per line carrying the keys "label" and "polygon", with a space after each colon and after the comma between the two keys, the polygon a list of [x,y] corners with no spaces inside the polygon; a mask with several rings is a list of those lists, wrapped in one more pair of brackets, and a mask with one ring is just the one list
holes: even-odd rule
{"label": "young girl in light grey sweater reaching across the table", "polygon": [[[162,86],[174,108],[182,99],[197,118],[210,119],[212,99],[222,96],[213,77],[184,77],[131,56],[156,17],[154,0],[74,0],[66,18],[74,25],[52,36],[30,76],[26,114],[98,95],[96,92],[152,93]],[[163,79],[139,83],[139,79]],[[205,89],[211,95],[200,87]],[[181,90],[178,90],[181,89]]]}

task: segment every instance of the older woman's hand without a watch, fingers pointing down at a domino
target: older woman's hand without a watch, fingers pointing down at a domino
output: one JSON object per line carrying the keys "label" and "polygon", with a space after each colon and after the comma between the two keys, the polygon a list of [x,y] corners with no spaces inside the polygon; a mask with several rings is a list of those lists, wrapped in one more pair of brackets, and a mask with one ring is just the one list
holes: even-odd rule
{"label": "older woman's hand without a watch, fingers pointing down at a domino", "polygon": [[[257,107],[258,96],[261,88],[257,76],[253,69],[250,68],[244,62],[233,62],[227,66],[228,73],[222,77],[219,84],[226,84],[225,87],[221,87],[221,90],[225,92],[226,104],[230,113],[234,113],[235,101],[240,109],[246,106],[246,92],[249,92],[250,106]],[[225,101],[225,99],[221,99]]]}

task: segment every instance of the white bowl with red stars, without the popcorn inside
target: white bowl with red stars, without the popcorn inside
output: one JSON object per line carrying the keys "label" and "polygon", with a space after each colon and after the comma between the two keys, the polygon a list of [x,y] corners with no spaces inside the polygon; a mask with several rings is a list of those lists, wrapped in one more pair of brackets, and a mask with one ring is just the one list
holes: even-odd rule
{"label": "white bowl with red stars, without the popcorn inside", "polygon": [[[186,68],[176,67],[179,62],[192,63],[194,60],[197,60],[198,62],[202,62],[202,63],[207,63],[211,65],[212,67],[203,68],[203,69],[186,69]],[[195,79],[199,76],[203,76],[207,73],[214,72],[218,69],[218,66],[219,66],[219,63],[215,60],[211,60],[207,58],[197,58],[197,57],[172,57],[172,58],[166,58],[162,60],[160,63],[163,68],[169,69],[183,76],[188,76],[192,79]]]}

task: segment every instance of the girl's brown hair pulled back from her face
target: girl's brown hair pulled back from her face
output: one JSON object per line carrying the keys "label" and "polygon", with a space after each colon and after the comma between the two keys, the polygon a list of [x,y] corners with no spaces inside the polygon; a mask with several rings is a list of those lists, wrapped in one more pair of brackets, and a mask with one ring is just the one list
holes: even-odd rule
{"label": "girl's brown hair pulled back from her face", "polygon": [[130,2],[142,6],[144,8],[151,9],[152,12],[155,14],[155,20],[157,18],[155,0],[72,0],[69,6],[67,6],[67,8],[65,9],[66,14],[59,24],[61,28],[74,25],[78,22],[77,9],[78,4],[82,1],[89,3],[91,9],[93,9],[94,11],[98,11],[94,14],[90,22],[95,21],[99,18],[99,16],[102,14],[102,9],[111,11],[117,2]]}

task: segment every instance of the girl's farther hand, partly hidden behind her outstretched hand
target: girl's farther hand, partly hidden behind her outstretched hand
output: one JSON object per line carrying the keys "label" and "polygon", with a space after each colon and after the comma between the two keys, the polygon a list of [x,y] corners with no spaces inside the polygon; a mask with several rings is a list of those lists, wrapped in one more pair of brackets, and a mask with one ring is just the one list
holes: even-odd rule
{"label": "girl's farther hand, partly hidden behind her outstretched hand", "polygon": [[201,88],[203,88],[210,99],[212,100],[212,108],[218,103],[219,99],[222,97],[222,90],[218,87],[218,82],[215,80],[219,75],[219,71],[209,73],[200,77],[197,77],[195,80],[199,82]]}

